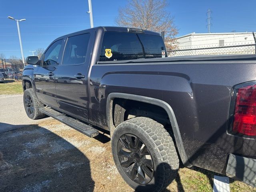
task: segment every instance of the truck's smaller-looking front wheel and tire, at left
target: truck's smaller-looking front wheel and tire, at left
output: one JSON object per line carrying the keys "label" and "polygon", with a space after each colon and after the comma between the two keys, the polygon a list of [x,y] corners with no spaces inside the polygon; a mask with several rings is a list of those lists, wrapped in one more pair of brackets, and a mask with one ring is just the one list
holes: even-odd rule
{"label": "truck's smaller-looking front wheel and tire, at left", "polygon": [[44,107],[44,105],[38,101],[32,88],[24,91],[23,104],[26,114],[30,119],[40,119],[46,116],[44,113],[39,111],[39,108]]}

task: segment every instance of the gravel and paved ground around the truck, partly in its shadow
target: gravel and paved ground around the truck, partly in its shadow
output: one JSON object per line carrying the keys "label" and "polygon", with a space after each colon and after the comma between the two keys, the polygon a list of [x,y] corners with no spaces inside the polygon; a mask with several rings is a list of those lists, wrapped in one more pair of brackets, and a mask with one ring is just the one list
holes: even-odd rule
{"label": "gravel and paved ground around the truck, partly in its shadow", "polygon": [[[30,120],[22,96],[0,96],[0,192],[134,192],[120,177],[110,138],[52,119]],[[165,192],[212,192],[213,172],[180,168]],[[232,181],[231,192],[256,189]]]}

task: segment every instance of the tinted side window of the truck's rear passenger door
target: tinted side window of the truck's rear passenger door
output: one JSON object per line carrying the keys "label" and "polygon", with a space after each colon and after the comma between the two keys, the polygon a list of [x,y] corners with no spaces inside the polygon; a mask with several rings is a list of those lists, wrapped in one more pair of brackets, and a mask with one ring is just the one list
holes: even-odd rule
{"label": "tinted side window of the truck's rear passenger door", "polygon": [[69,37],[65,46],[62,64],[83,64],[85,62],[89,40],[90,33]]}

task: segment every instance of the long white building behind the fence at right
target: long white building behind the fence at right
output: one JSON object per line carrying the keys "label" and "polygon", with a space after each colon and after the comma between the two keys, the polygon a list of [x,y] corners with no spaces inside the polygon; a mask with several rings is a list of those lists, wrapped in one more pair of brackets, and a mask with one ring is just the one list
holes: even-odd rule
{"label": "long white building behind the fence at right", "polygon": [[194,32],[178,37],[177,42],[177,49],[179,51],[171,52],[171,56],[201,54],[255,54],[255,41],[252,32]]}

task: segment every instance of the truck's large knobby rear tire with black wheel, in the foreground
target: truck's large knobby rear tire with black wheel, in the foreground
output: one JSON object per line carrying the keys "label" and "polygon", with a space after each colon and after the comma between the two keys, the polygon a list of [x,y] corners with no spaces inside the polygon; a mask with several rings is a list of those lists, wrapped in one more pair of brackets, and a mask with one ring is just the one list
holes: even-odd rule
{"label": "truck's large knobby rear tire with black wheel, in the foreground", "polygon": [[111,140],[118,172],[136,191],[159,192],[176,177],[179,158],[174,142],[158,122],[146,117],[129,119],[116,127]]}

